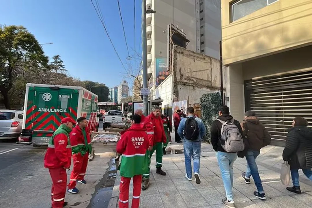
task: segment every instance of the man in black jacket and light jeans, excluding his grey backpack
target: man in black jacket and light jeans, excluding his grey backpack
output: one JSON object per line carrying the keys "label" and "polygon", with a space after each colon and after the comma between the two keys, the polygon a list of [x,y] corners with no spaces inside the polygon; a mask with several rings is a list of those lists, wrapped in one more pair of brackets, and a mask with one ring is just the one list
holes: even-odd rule
{"label": "man in black jacket and light jeans, excluding his grey backpack", "polygon": [[[230,109],[227,106],[222,106],[219,109],[219,117],[221,121],[233,121],[233,116],[230,115]],[[241,129],[241,125],[239,121],[234,120],[233,124],[237,126],[239,129],[241,135],[243,134],[243,131]],[[234,172],[233,172],[233,165],[234,161],[237,159],[237,152],[227,152],[225,151],[221,144],[220,144],[220,139],[221,139],[221,128],[222,128],[222,123],[218,120],[215,120],[212,122],[211,126],[211,142],[212,142],[212,147],[214,151],[216,151],[216,156],[217,160],[219,163],[220,171],[221,171],[221,176],[222,176],[222,181],[224,184],[224,189],[226,192],[226,198],[222,199],[222,203],[227,206],[227,207],[235,207],[234,205],[234,199],[233,199],[233,177],[234,177]]]}

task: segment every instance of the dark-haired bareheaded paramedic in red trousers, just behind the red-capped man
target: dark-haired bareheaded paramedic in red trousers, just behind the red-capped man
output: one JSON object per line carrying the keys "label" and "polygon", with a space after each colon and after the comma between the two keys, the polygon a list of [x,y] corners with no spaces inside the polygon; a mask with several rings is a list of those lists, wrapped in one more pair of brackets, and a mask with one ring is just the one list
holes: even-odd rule
{"label": "dark-haired bareheaded paramedic in red trousers, just behind the red-capped man", "polygon": [[74,167],[71,171],[71,180],[68,184],[68,192],[76,194],[79,190],[76,184],[86,184],[84,179],[87,170],[89,154],[91,152],[90,132],[87,128],[88,121],[85,117],[77,119],[77,126],[70,133],[71,151],[73,153]]}

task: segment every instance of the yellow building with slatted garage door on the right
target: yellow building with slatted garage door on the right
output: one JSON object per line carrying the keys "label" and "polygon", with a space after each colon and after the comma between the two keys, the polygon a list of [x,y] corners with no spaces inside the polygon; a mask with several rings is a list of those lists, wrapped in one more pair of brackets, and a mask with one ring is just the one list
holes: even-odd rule
{"label": "yellow building with slatted garage door on the right", "polygon": [[221,0],[227,105],[256,111],[283,145],[295,116],[312,125],[312,1]]}

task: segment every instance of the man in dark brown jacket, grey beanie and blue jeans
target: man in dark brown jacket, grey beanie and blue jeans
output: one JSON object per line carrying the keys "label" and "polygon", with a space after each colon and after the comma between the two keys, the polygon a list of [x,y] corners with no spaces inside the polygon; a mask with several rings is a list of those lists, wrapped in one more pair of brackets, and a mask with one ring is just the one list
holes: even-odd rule
{"label": "man in dark brown jacket, grey beanie and blue jeans", "polygon": [[248,140],[248,148],[245,148],[247,169],[246,173],[243,172],[241,176],[246,184],[250,184],[250,177],[252,176],[258,190],[254,192],[254,195],[264,200],[266,199],[266,195],[259,176],[256,158],[260,155],[260,149],[271,143],[271,136],[257,119],[254,111],[246,111],[245,119],[241,122],[241,128],[244,133],[243,136]]}

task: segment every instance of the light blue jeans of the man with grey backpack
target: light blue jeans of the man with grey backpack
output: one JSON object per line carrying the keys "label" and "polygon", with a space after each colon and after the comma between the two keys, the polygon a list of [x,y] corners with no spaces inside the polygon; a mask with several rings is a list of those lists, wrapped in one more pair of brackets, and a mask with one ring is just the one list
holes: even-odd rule
{"label": "light blue jeans of the man with grey backpack", "polygon": [[217,151],[216,156],[221,171],[225,193],[227,195],[227,200],[234,201],[232,192],[234,177],[233,165],[234,161],[237,159],[237,153]]}

